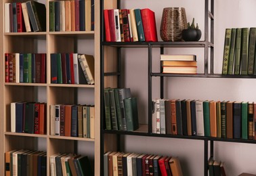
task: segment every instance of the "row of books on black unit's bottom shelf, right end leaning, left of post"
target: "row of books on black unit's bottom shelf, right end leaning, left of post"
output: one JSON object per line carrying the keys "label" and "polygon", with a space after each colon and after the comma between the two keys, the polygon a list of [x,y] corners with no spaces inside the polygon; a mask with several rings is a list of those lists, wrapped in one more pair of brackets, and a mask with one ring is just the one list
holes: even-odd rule
{"label": "row of books on black unit's bottom shelf, right end leaning, left of post", "polygon": [[106,152],[104,175],[182,176],[179,158],[155,154]]}

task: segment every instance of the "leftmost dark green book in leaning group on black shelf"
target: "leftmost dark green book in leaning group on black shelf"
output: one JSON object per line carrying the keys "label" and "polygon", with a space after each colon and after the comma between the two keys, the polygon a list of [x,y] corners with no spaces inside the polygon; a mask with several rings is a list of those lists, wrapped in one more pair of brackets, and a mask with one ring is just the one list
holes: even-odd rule
{"label": "leftmost dark green book in leaning group on black shelf", "polygon": [[110,116],[110,97],[109,97],[109,90],[110,88],[104,89],[104,106],[105,106],[105,123],[106,129],[111,130],[111,116]]}

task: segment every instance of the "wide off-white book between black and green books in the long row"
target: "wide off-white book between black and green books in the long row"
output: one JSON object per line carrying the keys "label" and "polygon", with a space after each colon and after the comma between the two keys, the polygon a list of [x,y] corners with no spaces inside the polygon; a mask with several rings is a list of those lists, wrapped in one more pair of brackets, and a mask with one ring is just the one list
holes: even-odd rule
{"label": "wide off-white book between black and green books in the long row", "polygon": [[204,112],[202,101],[196,100],[196,133],[197,135],[205,136]]}

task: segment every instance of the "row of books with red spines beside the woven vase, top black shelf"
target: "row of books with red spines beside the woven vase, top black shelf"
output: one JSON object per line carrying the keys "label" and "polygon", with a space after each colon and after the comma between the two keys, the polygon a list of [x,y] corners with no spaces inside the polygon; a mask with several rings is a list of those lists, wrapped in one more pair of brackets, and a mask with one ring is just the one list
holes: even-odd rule
{"label": "row of books with red spines beside the woven vase, top black shelf", "polygon": [[150,9],[104,9],[106,41],[158,41]]}

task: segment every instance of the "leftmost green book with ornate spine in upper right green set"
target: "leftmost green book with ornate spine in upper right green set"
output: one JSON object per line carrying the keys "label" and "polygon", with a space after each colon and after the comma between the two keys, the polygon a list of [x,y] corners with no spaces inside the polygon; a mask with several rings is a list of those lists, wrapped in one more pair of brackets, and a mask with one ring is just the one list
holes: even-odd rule
{"label": "leftmost green book with ornate spine in upper right green set", "polygon": [[228,58],[230,56],[230,39],[231,39],[231,28],[226,28],[224,51],[223,51],[222,74],[228,74]]}

